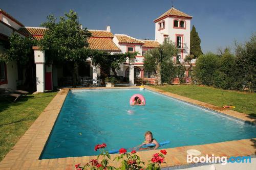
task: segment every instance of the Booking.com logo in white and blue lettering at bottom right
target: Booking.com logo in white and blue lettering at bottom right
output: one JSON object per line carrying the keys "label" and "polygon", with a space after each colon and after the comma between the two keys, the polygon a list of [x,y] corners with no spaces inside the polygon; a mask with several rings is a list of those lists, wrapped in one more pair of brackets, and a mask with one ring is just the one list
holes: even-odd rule
{"label": "Booking.com logo in white and blue lettering at bottom right", "polygon": [[[251,157],[250,156],[231,156],[230,158],[227,158],[226,156],[214,156],[214,154],[212,155],[206,155],[206,156],[195,156],[195,155],[200,155],[201,152],[195,152],[197,150],[194,151],[187,151],[187,163],[221,163],[222,165],[225,165],[227,163],[251,163]],[[192,152],[192,153],[191,153]],[[191,154],[190,154],[191,153]],[[198,154],[200,153],[200,154]]]}

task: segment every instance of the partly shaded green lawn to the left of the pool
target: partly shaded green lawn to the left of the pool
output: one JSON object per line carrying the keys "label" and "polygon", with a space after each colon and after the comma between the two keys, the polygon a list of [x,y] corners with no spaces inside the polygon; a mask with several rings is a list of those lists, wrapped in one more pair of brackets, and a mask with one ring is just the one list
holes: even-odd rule
{"label": "partly shaded green lawn to the left of the pool", "polygon": [[57,92],[30,94],[15,103],[0,101],[0,161],[29,129]]}

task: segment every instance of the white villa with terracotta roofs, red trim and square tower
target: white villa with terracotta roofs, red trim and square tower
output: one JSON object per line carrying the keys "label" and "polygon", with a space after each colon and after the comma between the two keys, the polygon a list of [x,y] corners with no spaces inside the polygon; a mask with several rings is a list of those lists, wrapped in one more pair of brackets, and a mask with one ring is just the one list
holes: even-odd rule
{"label": "white villa with terracotta roofs, red trim and square tower", "polygon": [[[89,30],[92,37],[89,38],[89,47],[92,49],[103,50],[110,54],[138,52],[136,60],[129,65],[128,59],[121,65],[121,69],[117,70],[117,74],[125,82],[129,80],[130,85],[134,85],[138,78],[148,80],[151,84],[156,83],[155,72],[144,71],[144,54],[147,50],[158,47],[165,38],[169,38],[176,43],[179,49],[179,54],[173,58],[174,62],[184,63],[184,58],[189,54],[190,46],[190,20],[189,16],[174,7],[163,13],[154,20],[155,22],[155,40],[141,40],[131,37],[126,34],[111,33],[111,28],[108,26],[106,30]],[[45,28],[40,27],[25,27],[11,15],[0,9],[0,53],[4,53],[4,43],[8,41],[8,37],[12,32],[17,32],[20,36],[33,36],[40,40],[44,37]],[[45,52],[39,51],[38,47],[33,47],[35,65],[34,75],[36,80],[36,91],[43,92],[51,90],[53,87],[62,86],[60,80],[68,82],[69,72],[65,65],[46,64]],[[189,79],[189,65],[184,63],[186,67],[186,80]],[[90,77],[93,81],[97,81],[100,71],[99,66],[88,62],[79,66],[79,76]],[[33,72],[33,71],[32,71]],[[23,83],[25,73],[18,70],[16,62],[0,63],[0,87],[8,87],[16,89],[17,85]]]}

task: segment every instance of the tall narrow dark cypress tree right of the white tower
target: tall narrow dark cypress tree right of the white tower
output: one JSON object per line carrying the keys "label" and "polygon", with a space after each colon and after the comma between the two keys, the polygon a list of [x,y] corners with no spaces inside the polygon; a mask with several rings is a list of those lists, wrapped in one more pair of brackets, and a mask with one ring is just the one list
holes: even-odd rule
{"label": "tall narrow dark cypress tree right of the white tower", "polygon": [[201,39],[199,38],[195,26],[193,26],[190,32],[190,54],[194,55],[195,58],[203,54],[200,43]]}

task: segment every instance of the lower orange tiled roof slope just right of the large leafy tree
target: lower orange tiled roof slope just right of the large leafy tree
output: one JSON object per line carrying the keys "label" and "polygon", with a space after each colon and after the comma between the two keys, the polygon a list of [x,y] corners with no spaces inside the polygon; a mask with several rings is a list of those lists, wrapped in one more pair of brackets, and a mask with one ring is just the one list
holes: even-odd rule
{"label": "lower orange tiled roof slope just right of the large leafy tree", "polygon": [[121,50],[116,46],[111,38],[94,38],[88,39],[89,47],[95,50],[104,50],[112,52],[120,52]]}

